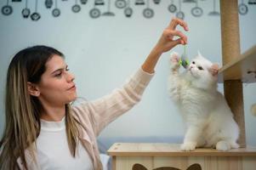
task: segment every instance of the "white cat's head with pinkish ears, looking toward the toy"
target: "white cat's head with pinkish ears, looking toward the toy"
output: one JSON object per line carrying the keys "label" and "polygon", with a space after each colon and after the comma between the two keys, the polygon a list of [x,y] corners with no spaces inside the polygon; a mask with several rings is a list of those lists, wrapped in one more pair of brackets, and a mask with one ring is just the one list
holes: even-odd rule
{"label": "white cat's head with pinkish ears, looking toward the toy", "polygon": [[202,57],[198,52],[187,67],[187,76],[199,88],[208,88],[217,83],[218,65]]}

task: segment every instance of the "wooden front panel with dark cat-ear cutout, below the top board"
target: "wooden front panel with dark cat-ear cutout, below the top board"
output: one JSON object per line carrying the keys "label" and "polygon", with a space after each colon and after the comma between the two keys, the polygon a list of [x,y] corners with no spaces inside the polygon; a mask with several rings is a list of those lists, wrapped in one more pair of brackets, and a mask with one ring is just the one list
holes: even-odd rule
{"label": "wooden front panel with dark cat-ear cutout, below the top board", "polygon": [[140,164],[147,170],[170,169],[170,167],[187,169],[194,164],[199,164],[203,170],[254,170],[256,158],[253,156],[117,156],[116,164],[116,170],[131,170],[134,164]]}

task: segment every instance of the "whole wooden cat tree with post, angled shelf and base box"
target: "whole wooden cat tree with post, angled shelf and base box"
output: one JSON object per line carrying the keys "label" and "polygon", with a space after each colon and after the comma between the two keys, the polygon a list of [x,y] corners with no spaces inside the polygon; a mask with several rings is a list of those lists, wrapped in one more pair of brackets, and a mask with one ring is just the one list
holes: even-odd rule
{"label": "whole wooden cat tree with post, angled shelf and base box", "polygon": [[237,0],[220,0],[219,3],[224,65],[219,70],[219,82],[224,82],[225,98],[240,127],[238,143],[241,148],[229,151],[196,149],[185,152],[179,150],[179,144],[116,143],[108,150],[112,156],[113,170],[256,169],[256,147],[246,144],[242,94],[242,82],[256,82],[256,46],[244,54],[240,53]]}

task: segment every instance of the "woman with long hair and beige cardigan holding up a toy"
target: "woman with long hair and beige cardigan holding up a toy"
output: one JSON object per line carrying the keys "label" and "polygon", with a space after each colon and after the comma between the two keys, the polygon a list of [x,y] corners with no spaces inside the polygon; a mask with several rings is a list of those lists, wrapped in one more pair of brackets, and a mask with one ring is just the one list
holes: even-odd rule
{"label": "woman with long hair and beige cardigan holding up a toy", "polygon": [[139,102],[161,54],[187,43],[178,25],[188,31],[183,20],[172,20],[130,81],[86,105],[71,107],[74,76],[58,50],[35,46],[16,54],[7,75],[0,169],[102,169],[97,135]]}

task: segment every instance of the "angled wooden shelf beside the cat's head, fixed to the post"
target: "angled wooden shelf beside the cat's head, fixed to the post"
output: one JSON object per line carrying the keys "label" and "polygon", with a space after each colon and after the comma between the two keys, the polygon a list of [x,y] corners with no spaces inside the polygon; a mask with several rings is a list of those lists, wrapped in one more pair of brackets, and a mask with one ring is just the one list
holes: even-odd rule
{"label": "angled wooden shelf beside the cat's head, fixed to the post", "polygon": [[[251,72],[250,71],[254,71]],[[244,54],[219,69],[218,82],[225,80],[242,80],[256,82],[256,45]]]}

